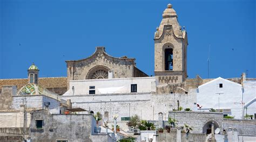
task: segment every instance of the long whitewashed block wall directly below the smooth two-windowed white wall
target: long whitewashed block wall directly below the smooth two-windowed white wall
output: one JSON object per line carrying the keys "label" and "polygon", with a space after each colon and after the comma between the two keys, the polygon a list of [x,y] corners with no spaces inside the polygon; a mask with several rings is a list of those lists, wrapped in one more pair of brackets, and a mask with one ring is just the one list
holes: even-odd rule
{"label": "long whitewashed block wall directly below the smooth two-windowed white wall", "polygon": [[62,99],[71,99],[72,106],[80,107],[94,112],[109,112],[109,119],[118,114],[121,117],[138,115],[145,120],[158,120],[158,113],[165,114],[164,120],[168,119],[168,112],[177,108],[177,101],[183,108],[193,108],[196,101],[195,94],[163,94],[154,95],[150,93],[130,94],[100,94],[100,95],[63,95]]}

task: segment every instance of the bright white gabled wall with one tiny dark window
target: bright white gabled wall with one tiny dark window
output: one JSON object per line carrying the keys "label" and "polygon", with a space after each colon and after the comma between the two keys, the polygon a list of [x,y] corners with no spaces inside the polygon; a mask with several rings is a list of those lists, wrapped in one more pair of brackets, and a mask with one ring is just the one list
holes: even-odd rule
{"label": "bright white gabled wall with one tiny dark window", "polygon": [[[223,83],[223,88],[219,84]],[[220,93],[220,95],[218,94]],[[231,109],[231,116],[242,117],[241,84],[218,77],[197,89],[197,103],[202,109]]]}

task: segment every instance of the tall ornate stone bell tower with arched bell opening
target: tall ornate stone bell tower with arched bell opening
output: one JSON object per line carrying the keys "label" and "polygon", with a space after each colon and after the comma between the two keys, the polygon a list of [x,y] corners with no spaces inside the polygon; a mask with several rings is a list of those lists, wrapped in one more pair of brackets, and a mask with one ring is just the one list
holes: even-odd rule
{"label": "tall ornate stone bell tower with arched bell opening", "polygon": [[159,84],[179,83],[187,77],[187,33],[168,4],[154,33],[154,74]]}

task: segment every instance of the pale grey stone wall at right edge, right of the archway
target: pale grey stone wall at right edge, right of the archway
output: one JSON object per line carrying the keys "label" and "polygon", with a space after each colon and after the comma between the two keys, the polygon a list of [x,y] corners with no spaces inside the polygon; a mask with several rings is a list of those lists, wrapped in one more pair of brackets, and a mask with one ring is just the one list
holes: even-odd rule
{"label": "pale grey stone wall at right edge, right of the archway", "polygon": [[256,120],[224,119],[224,129],[237,129],[238,135],[256,136]]}

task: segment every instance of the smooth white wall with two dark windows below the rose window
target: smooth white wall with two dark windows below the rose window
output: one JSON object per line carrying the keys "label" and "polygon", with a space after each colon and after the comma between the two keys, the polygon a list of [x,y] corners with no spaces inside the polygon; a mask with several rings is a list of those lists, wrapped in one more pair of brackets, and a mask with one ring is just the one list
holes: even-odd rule
{"label": "smooth white wall with two dark windows below the rose window", "polygon": [[95,86],[96,94],[130,93],[131,84],[137,84],[138,93],[156,91],[155,77],[132,77],[102,80],[71,80],[69,91],[64,95],[89,94],[90,86]]}

